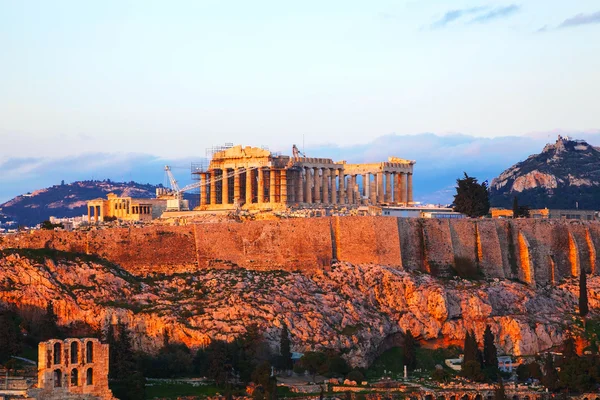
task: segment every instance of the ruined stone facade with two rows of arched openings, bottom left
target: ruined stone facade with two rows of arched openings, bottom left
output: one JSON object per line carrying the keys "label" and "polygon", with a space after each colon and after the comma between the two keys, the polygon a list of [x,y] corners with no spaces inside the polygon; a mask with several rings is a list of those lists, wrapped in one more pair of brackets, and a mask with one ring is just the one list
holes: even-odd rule
{"label": "ruined stone facade with two rows of arched openings, bottom left", "polygon": [[108,388],[108,344],[93,338],[52,339],[39,344],[38,360],[35,398],[114,399]]}

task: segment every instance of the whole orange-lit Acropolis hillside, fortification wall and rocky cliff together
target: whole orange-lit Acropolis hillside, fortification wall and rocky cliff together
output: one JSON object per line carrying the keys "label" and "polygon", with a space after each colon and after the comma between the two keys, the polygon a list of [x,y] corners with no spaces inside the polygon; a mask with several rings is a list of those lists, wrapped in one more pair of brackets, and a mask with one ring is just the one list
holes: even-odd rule
{"label": "whole orange-lit Acropolis hillside, fortification wall and rocky cliff together", "polygon": [[165,327],[196,347],[251,322],[276,343],[286,322],[298,351],[345,349],[365,365],[406,329],[442,346],[460,343],[466,329],[481,340],[489,324],[504,351],[534,354],[563,340],[584,269],[598,312],[598,246],[599,223],[533,220],[330,217],[37,231],[2,239],[0,293],[18,306],[53,299],[61,324],[101,327],[118,316],[143,349],[159,347]]}

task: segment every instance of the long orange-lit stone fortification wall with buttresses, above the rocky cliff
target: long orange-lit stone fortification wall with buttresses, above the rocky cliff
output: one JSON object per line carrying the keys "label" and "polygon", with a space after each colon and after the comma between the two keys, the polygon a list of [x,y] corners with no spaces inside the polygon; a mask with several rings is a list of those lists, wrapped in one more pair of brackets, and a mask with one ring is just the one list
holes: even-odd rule
{"label": "long orange-lit stone fortification wall with buttresses, above the rocky cliff", "polygon": [[331,217],[181,227],[36,231],[0,238],[0,248],[97,254],[134,274],[197,268],[310,272],[333,260],[546,285],[598,271],[600,223]]}

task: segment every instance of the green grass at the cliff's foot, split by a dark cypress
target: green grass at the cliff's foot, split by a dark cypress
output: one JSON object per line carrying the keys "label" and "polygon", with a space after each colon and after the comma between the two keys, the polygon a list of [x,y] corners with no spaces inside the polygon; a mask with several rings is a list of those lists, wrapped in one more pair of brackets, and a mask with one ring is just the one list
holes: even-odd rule
{"label": "green grass at the cliff's foot, split by a dark cypress", "polygon": [[[367,379],[377,379],[387,375],[394,377],[401,376],[404,373],[404,351],[401,347],[392,347],[379,356],[367,370]],[[445,349],[425,349],[417,348],[417,369],[424,373],[432,371],[436,365],[444,366],[444,360],[447,358],[456,358],[460,349],[449,347]]]}

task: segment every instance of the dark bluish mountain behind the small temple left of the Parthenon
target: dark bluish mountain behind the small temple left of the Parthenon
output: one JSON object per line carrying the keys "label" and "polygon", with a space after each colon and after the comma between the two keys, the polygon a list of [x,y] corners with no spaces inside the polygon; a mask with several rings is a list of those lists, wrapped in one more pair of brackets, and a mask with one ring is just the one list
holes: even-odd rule
{"label": "dark bluish mountain behind the small temple left of the Parthenon", "polygon": [[75,217],[87,214],[88,200],[105,198],[108,193],[153,198],[157,187],[159,186],[110,180],[54,185],[0,204],[0,215],[5,221],[12,220],[19,225],[33,226],[50,216]]}

